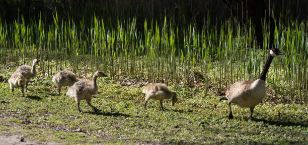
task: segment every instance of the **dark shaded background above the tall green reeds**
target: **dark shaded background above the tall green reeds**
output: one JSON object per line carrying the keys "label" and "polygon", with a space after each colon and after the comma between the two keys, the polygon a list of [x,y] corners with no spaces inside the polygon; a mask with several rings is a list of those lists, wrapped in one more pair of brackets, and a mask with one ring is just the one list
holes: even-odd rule
{"label": "dark shaded background above the tall green reeds", "polygon": [[52,24],[53,15],[57,14],[60,22],[68,19],[83,21],[91,27],[96,16],[111,28],[116,28],[118,20],[130,22],[135,19],[136,28],[141,32],[144,20],[163,26],[165,17],[168,24],[179,31],[190,24],[202,29],[214,28],[229,20],[243,25],[252,21],[257,44],[261,47],[262,21],[265,20],[270,31],[270,48],[274,34],[271,28],[275,23],[279,21],[289,26],[293,21],[306,21],[307,7],[308,0],[0,0],[0,18],[13,23],[23,16],[25,23],[40,18],[46,24]]}

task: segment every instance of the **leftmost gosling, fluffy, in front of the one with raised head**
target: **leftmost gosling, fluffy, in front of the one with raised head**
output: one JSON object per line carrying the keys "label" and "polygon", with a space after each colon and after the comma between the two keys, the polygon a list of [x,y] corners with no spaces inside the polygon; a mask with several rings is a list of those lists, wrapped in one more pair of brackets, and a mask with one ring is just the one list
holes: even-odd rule
{"label": "leftmost gosling, fluffy, in front of the one with raised head", "polygon": [[21,91],[24,97],[25,96],[24,95],[25,83],[26,83],[26,79],[24,78],[24,76],[19,72],[14,72],[11,75],[11,78],[9,79],[10,89],[12,90],[12,96],[14,96],[14,88],[21,87]]}

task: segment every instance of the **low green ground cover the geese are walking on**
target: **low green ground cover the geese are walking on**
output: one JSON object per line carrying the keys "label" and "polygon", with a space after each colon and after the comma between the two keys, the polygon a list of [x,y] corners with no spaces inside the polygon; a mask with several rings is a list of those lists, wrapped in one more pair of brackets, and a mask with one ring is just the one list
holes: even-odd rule
{"label": "low green ground cover the geese are walking on", "polygon": [[[0,82],[0,134],[64,144],[308,143],[306,105],[272,105],[266,99],[256,106],[254,121],[249,120],[248,108],[233,105],[235,119],[229,120],[227,103],[218,101],[216,86],[205,88],[200,83],[198,87],[170,86],[179,97],[174,107],[165,101],[162,111],[158,101],[149,101],[144,110],[142,88],[146,82],[105,77],[98,79],[99,90],[92,99],[102,112],[93,113],[85,101],[79,112],[74,100],[65,95],[67,87],[57,96],[56,86],[47,76],[33,78],[29,88],[34,91],[25,92],[26,97],[21,97],[20,89],[12,96],[7,79],[15,69],[2,66],[0,71],[4,77]],[[77,75],[92,77],[92,73]]]}

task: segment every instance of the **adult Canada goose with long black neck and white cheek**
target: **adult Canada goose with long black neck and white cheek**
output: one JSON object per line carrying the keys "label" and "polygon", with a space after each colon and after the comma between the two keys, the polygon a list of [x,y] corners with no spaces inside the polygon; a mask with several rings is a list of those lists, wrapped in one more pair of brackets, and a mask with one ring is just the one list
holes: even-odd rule
{"label": "adult Canada goose with long black neck and white cheek", "polygon": [[232,119],[231,103],[237,104],[240,107],[250,108],[250,120],[253,119],[253,111],[256,105],[258,105],[263,97],[266,95],[265,91],[265,78],[266,73],[272,63],[275,56],[282,55],[284,53],[280,52],[278,48],[272,48],[269,51],[267,61],[265,63],[264,69],[255,81],[240,81],[233,85],[228,86],[223,90],[221,95],[225,95],[221,100],[228,100],[229,105],[229,115],[228,118]]}

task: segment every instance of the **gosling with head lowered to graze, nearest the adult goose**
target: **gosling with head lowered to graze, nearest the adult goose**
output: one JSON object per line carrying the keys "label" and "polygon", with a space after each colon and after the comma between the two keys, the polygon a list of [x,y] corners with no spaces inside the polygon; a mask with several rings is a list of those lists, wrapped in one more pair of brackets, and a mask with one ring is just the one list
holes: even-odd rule
{"label": "gosling with head lowered to graze, nearest the adult goose", "polygon": [[163,107],[163,100],[164,99],[171,99],[172,106],[178,101],[177,93],[175,91],[170,91],[165,84],[150,84],[142,90],[142,93],[146,95],[144,100],[143,108],[145,109],[146,103],[148,100],[160,100],[160,105],[162,110]]}

